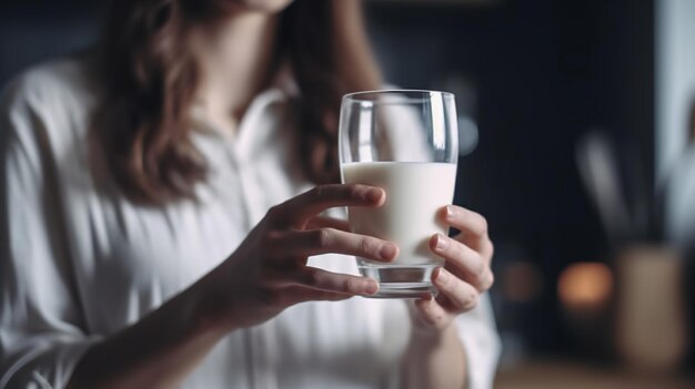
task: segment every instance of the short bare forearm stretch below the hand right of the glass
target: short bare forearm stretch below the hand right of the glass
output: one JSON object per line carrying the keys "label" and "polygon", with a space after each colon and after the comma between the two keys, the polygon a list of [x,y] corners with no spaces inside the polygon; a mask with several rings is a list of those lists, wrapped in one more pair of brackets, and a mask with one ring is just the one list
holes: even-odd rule
{"label": "short bare forearm stretch below the hand right of the glass", "polygon": [[454,325],[442,332],[414,329],[401,367],[402,387],[463,389],[465,367],[465,351]]}

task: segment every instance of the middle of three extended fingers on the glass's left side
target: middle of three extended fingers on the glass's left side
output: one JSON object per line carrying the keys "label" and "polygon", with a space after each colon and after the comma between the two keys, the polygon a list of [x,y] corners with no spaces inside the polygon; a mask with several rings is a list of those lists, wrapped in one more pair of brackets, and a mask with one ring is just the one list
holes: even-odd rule
{"label": "middle of three extended fingers on the glass's left side", "polygon": [[338,253],[389,262],[399,253],[393,243],[335,228],[278,232],[266,244],[269,254],[275,258]]}

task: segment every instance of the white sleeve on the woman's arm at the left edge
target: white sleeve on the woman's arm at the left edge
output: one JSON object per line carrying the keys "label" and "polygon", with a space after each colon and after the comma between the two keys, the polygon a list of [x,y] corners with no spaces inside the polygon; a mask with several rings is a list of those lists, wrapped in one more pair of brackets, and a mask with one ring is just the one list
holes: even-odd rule
{"label": "white sleeve on the woman's arm at the left edge", "polygon": [[63,388],[97,341],[64,235],[46,88],[23,78],[0,98],[0,388]]}

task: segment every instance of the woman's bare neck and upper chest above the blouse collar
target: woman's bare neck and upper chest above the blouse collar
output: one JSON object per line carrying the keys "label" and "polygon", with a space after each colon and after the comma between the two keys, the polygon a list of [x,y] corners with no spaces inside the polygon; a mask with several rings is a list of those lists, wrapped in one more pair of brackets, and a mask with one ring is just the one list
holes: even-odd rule
{"label": "woman's bare neck and upper chest above the blouse collar", "polygon": [[192,33],[201,70],[198,102],[213,125],[233,134],[272,71],[278,16],[243,12]]}

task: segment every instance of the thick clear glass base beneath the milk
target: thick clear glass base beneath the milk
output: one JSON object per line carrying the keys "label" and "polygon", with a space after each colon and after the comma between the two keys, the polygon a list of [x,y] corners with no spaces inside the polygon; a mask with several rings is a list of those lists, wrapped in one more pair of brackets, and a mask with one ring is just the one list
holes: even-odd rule
{"label": "thick clear glass base beneath the milk", "polygon": [[377,265],[357,262],[360,274],[374,278],[379,283],[379,291],[369,298],[426,298],[436,296],[432,285],[432,272],[441,265]]}

